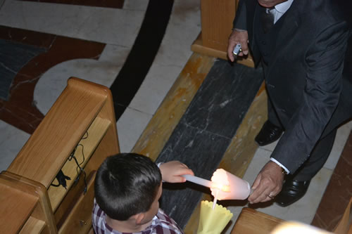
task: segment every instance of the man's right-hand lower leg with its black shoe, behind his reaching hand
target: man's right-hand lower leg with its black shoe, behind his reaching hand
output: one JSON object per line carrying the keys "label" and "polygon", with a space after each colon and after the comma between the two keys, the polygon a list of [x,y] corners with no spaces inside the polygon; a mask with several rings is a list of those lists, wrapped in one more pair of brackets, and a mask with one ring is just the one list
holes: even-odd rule
{"label": "man's right-hand lower leg with its black shoe, behind his reaching hand", "polygon": [[336,133],[337,129],[334,129],[327,136],[320,139],[302,167],[294,175],[287,176],[281,192],[275,199],[277,204],[287,207],[306,194],[310,180],[320,171],[330,155]]}

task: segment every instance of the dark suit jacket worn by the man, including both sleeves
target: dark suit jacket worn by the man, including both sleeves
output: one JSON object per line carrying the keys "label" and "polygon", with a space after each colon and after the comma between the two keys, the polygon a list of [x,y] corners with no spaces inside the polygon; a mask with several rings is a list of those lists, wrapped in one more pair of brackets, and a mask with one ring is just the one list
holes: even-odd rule
{"label": "dark suit jacket worn by the man, including both sleeves", "polygon": [[[351,25],[341,2],[294,0],[264,70],[268,95],[285,129],[271,157],[291,173],[321,137],[352,117]],[[235,28],[248,31],[256,64],[260,7],[257,0],[239,1],[234,20]]]}

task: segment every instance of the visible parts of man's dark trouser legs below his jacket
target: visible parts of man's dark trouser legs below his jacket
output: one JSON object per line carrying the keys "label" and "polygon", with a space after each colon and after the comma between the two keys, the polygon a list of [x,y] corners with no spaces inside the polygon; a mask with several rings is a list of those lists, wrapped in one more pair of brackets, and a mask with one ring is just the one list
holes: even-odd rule
{"label": "visible parts of man's dark trouser legs below his jacket", "polygon": [[[268,98],[268,119],[272,124],[276,126],[282,126],[279,121],[279,117],[272,107],[270,98]],[[323,138],[320,138],[313,151],[310,153],[308,160],[302,164],[302,166],[294,173],[293,178],[296,181],[309,181],[320,169],[324,166],[334,145],[335,136],[337,129],[333,129],[326,134]]]}

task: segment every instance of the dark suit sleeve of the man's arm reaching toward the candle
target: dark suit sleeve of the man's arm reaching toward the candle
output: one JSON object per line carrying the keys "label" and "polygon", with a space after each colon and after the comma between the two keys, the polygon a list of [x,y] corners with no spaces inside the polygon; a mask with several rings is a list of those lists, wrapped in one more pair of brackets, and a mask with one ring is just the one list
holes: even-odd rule
{"label": "dark suit sleeve of the man's arm reaching toward the candle", "polygon": [[308,48],[302,102],[271,156],[291,174],[306,162],[337,108],[347,40],[346,23],[338,22],[322,30]]}

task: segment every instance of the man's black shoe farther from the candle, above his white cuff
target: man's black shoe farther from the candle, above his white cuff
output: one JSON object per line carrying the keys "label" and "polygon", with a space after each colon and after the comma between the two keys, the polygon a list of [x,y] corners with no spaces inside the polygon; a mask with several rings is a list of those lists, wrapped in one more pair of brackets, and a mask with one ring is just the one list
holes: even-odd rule
{"label": "man's black shoe farther from the candle, above his white cuff", "polygon": [[267,120],[267,122],[263,124],[262,129],[260,129],[259,134],[254,140],[260,146],[268,145],[280,138],[283,131],[284,130],[281,127],[275,126],[269,120]]}

